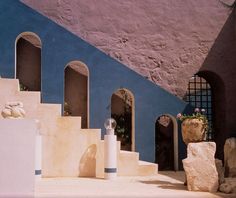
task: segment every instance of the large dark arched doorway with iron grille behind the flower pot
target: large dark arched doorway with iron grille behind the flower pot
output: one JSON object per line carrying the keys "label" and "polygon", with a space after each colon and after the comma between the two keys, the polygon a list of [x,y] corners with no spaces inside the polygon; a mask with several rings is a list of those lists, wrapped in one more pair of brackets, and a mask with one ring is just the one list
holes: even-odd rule
{"label": "large dark arched doorway with iron grille behind the flower pot", "polygon": [[[215,156],[221,160],[224,159],[224,143],[228,138],[225,86],[221,76],[213,71],[201,70],[189,80],[188,90],[184,97],[184,100],[192,106],[206,109],[211,129],[207,133],[207,140],[216,142]],[[199,98],[203,100],[197,101]]]}

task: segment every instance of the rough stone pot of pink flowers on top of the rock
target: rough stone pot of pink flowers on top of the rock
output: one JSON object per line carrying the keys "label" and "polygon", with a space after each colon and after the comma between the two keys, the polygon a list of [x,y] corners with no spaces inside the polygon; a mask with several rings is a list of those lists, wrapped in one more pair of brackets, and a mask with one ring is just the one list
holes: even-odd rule
{"label": "rough stone pot of pink flowers on top of the rock", "polygon": [[182,121],[182,137],[187,145],[190,142],[201,142],[206,138],[208,130],[208,121],[204,115],[205,109],[196,108],[192,115],[182,115],[179,113],[177,118]]}

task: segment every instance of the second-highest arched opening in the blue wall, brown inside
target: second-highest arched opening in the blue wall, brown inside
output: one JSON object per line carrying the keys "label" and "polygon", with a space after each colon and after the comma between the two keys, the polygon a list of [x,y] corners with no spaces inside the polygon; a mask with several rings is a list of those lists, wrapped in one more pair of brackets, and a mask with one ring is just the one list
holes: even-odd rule
{"label": "second-highest arched opening in the blue wall, brown inside", "polygon": [[67,64],[64,77],[64,115],[81,116],[81,127],[88,128],[88,68],[80,61],[72,61]]}

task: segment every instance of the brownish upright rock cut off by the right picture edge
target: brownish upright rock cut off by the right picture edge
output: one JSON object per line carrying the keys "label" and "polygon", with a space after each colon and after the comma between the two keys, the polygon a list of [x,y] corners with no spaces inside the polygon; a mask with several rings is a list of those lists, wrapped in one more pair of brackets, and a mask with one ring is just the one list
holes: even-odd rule
{"label": "brownish upright rock cut off by the right picture edge", "polygon": [[236,177],[236,138],[225,141],[224,145],[225,176]]}

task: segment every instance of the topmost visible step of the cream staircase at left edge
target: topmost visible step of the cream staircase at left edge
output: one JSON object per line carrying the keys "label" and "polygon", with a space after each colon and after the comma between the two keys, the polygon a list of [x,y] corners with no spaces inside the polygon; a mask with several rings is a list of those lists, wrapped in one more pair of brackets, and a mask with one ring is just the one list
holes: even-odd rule
{"label": "topmost visible step of the cream staircase at left edge", "polygon": [[1,93],[15,93],[20,90],[19,80],[10,78],[0,78]]}

